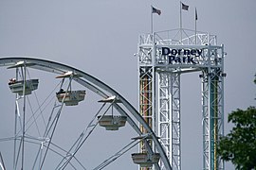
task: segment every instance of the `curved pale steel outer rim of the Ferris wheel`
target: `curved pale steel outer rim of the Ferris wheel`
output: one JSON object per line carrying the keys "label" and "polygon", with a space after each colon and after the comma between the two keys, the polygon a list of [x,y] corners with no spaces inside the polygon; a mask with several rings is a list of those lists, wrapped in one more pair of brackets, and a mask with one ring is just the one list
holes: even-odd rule
{"label": "curved pale steel outer rim of the Ferris wheel", "polygon": [[[97,93],[104,98],[109,97],[109,96],[116,96],[116,98],[119,100],[119,102],[121,104],[114,103],[113,106],[117,110],[119,110],[119,113],[121,115],[127,116],[128,123],[131,125],[131,127],[133,127],[135,129],[135,131],[137,132],[137,134],[139,136],[141,136],[141,138],[144,138],[143,136],[151,137],[152,141],[154,142],[155,148],[156,148],[155,151],[157,151],[160,154],[160,158],[164,164],[164,167],[166,169],[170,169],[170,170],[172,169],[170,162],[168,161],[168,158],[164,152],[164,149],[163,149],[162,145],[159,143],[159,141],[155,135],[155,132],[145,122],[145,120],[141,117],[141,115],[137,112],[137,110],[118,92],[116,92],[115,90],[113,90],[112,88],[110,88],[109,86],[107,86],[101,80],[97,79],[94,76],[90,76],[87,73],[82,72],[81,70],[76,69],[74,67],[71,67],[71,66],[68,66],[68,65],[65,65],[62,63],[50,61],[50,60],[24,58],[24,57],[9,57],[9,58],[1,58],[0,66],[1,67],[9,67],[9,66],[13,66],[13,65],[17,64],[20,61],[23,61],[25,68],[29,67],[29,68],[38,69],[38,70],[42,70],[42,71],[53,73],[53,74],[61,74],[61,75],[65,74],[67,72],[75,73],[79,76],[74,76],[73,80],[77,81],[82,86],[89,89],[90,91]],[[125,110],[128,110],[128,112]],[[137,127],[137,124],[131,118],[130,115],[133,115],[133,117],[136,118],[136,120],[139,122],[141,127],[146,129],[146,131],[147,131],[146,134],[144,133],[144,131],[141,131],[139,129],[139,127]],[[147,148],[149,154],[153,154],[152,148],[149,147],[149,144],[147,144],[146,141],[147,140],[145,140],[144,143],[146,144],[146,148]],[[79,147],[79,145],[78,145],[78,147]],[[68,159],[69,158],[72,159],[73,155],[68,157]],[[159,169],[159,166],[157,164],[155,164],[155,168]]]}

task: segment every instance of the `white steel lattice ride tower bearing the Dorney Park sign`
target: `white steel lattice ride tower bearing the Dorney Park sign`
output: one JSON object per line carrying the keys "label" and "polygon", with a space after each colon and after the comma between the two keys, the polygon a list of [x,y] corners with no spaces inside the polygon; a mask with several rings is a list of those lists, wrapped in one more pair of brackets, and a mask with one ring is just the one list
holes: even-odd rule
{"label": "white steel lattice ride tower bearing the Dorney Park sign", "polygon": [[202,79],[203,169],[224,169],[216,155],[224,133],[224,56],[224,46],[205,32],[174,29],[139,36],[139,111],[174,170],[181,169],[180,76],[190,72],[200,72]]}

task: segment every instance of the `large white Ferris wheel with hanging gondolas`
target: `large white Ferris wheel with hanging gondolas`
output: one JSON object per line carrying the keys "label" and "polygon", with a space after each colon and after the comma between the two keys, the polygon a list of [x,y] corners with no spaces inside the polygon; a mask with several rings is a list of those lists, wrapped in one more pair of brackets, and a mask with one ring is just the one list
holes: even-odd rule
{"label": "large white Ferris wheel with hanging gondolas", "polygon": [[45,59],[2,58],[0,69],[0,169],[98,170],[138,144],[134,163],[172,169],[152,128],[100,79]]}

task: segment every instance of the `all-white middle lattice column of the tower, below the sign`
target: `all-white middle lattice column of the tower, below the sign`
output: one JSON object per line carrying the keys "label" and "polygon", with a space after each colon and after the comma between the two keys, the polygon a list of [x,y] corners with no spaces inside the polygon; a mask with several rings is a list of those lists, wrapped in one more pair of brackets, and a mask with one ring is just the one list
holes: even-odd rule
{"label": "all-white middle lattice column of the tower, below the sign", "polygon": [[173,169],[180,170],[180,74],[158,75],[158,134]]}

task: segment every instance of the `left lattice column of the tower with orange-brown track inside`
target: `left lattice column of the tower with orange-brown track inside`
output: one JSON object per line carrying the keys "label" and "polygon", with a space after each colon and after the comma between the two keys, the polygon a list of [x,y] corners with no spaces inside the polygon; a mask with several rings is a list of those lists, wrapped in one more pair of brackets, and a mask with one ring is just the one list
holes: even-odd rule
{"label": "left lattice column of the tower with orange-brown track inside", "polygon": [[[147,122],[149,127],[155,131],[155,68],[154,68],[154,56],[155,46],[154,34],[150,34],[147,37],[140,37],[140,43],[146,44],[146,47],[138,47],[138,105],[139,113]],[[142,125],[139,126],[142,133],[148,133]],[[140,152],[147,152],[146,144],[153,147],[152,140],[142,141],[139,145]],[[140,170],[150,170],[151,167],[140,167]]]}

